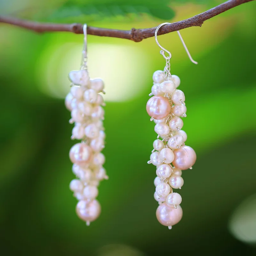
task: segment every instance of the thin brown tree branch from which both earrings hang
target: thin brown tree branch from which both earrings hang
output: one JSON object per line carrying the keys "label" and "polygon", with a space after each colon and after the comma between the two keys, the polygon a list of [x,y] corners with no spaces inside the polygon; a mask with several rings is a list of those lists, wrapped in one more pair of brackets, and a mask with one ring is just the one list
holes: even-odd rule
{"label": "thin brown tree branch from which both earrings hang", "polygon": [[[240,4],[244,4],[253,0],[229,0],[223,4],[220,4],[212,9],[197,14],[187,20],[181,20],[174,22],[170,25],[165,25],[159,29],[158,35],[164,35],[173,31],[181,30],[184,28],[189,28],[193,26],[201,27],[205,20],[209,20],[212,17],[226,12],[231,8],[234,8]],[[34,30],[35,32],[42,33],[42,32],[53,32],[53,31],[67,31],[76,34],[83,34],[83,25],[79,23],[73,24],[56,24],[56,23],[40,23],[34,22],[29,20],[21,20],[12,17],[5,17],[0,16],[0,22],[12,24],[18,27],[27,28],[30,30]],[[117,38],[124,38],[129,39],[134,42],[140,42],[143,39],[148,37],[155,36],[154,28],[140,28],[135,29],[132,28],[131,30],[118,30],[118,29],[109,29],[109,28],[95,28],[95,27],[87,27],[87,34],[94,35],[94,36],[108,36],[108,37],[117,37]]]}

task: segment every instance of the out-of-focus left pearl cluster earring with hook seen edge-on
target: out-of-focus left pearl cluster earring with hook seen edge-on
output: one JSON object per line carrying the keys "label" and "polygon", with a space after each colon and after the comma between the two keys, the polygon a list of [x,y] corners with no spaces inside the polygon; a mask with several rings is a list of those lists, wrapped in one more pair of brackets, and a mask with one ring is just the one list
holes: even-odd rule
{"label": "out-of-focus left pearl cluster earring with hook seen edge-on", "polygon": [[105,156],[105,133],[102,124],[105,106],[100,92],[104,93],[104,83],[100,78],[90,79],[87,72],[87,26],[84,25],[84,50],[81,70],[71,71],[68,75],[71,89],[66,96],[65,105],[71,111],[69,123],[75,123],[72,140],[81,140],[69,151],[73,163],[72,170],[77,179],[70,182],[70,189],[79,200],[76,205],[78,217],[90,225],[100,215],[98,196],[100,180],[108,179],[102,165]]}

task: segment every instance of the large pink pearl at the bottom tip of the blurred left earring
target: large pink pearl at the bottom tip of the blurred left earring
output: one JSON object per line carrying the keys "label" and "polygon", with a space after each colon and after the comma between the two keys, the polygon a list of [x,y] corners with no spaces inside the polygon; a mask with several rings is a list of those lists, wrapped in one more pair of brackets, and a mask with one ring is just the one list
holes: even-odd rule
{"label": "large pink pearl at the bottom tip of the blurred left earring", "polygon": [[84,221],[96,220],[100,215],[100,204],[94,199],[93,201],[79,201],[76,204],[76,214]]}

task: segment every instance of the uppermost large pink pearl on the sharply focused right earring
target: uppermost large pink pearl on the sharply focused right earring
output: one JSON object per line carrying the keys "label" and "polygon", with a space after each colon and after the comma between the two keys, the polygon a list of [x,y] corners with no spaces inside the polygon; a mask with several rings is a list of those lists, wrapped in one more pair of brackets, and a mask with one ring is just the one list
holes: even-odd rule
{"label": "uppermost large pink pearl on the sharply focused right earring", "polygon": [[153,116],[155,119],[163,119],[169,114],[171,105],[163,96],[153,96],[148,100],[146,108],[149,116]]}

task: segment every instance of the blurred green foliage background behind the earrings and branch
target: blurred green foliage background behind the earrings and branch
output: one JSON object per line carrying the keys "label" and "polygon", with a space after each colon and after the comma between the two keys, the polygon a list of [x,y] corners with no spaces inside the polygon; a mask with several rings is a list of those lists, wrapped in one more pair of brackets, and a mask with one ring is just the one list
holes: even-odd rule
{"label": "blurred green foliage background behind the earrings and branch", "polygon": [[[1,0],[0,13],[131,29],[221,2]],[[83,35],[0,24],[1,255],[255,255],[255,11],[253,1],[182,30],[198,65],[176,32],[159,36],[186,95],[186,144],[197,153],[193,170],[182,175],[183,218],[172,230],[156,220],[156,168],[147,164],[156,134],[145,105],[152,74],[165,65],[155,39],[88,36],[90,76],[106,84],[109,180],[99,187],[100,218],[87,227],[68,188],[74,141],[64,106]]]}

